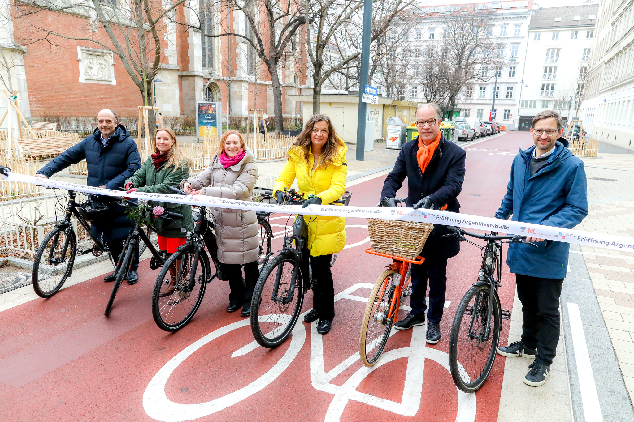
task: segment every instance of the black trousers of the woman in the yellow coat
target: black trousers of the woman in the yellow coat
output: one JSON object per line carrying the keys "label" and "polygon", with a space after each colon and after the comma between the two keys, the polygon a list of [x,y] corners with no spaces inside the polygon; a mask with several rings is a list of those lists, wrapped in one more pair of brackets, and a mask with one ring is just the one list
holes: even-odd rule
{"label": "black trousers of the woman in the yellow coat", "polygon": [[320,311],[320,320],[332,320],[335,317],[335,287],[332,282],[330,261],[332,254],[311,256],[304,250],[302,264],[304,266],[304,283],[308,283],[308,264],[313,271],[313,308]]}

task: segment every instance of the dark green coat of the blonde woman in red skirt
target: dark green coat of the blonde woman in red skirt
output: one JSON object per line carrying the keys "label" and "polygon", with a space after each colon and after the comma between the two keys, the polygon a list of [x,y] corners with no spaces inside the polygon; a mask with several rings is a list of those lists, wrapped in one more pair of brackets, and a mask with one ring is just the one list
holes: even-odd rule
{"label": "dark green coat of the blonde woman in red skirt", "polygon": [[[126,180],[132,182],[138,192],[150,192],[153,194],[174,194],[169,187],[178,187],[181,180],[190,177],[187,163],[181,163],[176,171],[174,164],[167,167],[167,163],[159,168],[154,167],[152,158],[148,158],[143,166],[134,173],[133,177]],[[148,201],[148,206],[154,208],[161,206],[165,211],[183,214],[183,218],[171,218],[170,220],[151,216],[152,226],[157,234],[164,237],[186,237],[187,232],[193,232],[194,226],[191,218],[191,206],[174,204],[172,202]]]}

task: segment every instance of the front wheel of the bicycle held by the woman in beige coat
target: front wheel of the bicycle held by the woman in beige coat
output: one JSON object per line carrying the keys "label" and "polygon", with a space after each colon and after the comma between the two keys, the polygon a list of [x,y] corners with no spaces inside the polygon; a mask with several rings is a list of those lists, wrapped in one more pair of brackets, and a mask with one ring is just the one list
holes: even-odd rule
{"label": "front wheel of the bicycle held by the woman in beige coat", "polygon": [[[152,316],[154,322],[164,331],[178,331],[193,318],[202,297],[205,295],[209,280],[209,261],[205,261],[204,249],[198,256],[195,283],[190,290],[190,276],[196,251],[176,251],[172,254],[159,272],[159,277],[152,292]],[[167,289],[174,283],[172,294],[160,297],[161,288]]]}

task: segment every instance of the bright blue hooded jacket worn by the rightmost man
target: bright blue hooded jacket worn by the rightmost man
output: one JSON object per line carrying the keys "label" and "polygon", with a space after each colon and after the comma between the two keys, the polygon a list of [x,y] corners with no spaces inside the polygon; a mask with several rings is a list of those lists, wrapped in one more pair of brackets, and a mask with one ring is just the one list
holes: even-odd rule
{"label": "bright blue hooded jacket worn by the rightmost man", "polygon": [[[588,187],[583,161],[560,142],[546,164],[531,176],[529,161],[534,146],[519,150],[511,166],[507,194],[496,218],[574,228],[588,215]],[[539,235],[535,235],[539,237]],[[507,264],[512,273],[540,278],[565,278],[570,244],[545,240],[538,247],[508,245]]]}

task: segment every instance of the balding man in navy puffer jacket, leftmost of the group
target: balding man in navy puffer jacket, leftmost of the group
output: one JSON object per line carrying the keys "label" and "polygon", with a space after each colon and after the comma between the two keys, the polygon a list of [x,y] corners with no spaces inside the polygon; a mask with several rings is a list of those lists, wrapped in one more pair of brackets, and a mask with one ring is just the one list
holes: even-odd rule
{"label": "balding man in navy puffer jacket, leftmost of the group", "polygon": [[[130,137],[124,125],[119,125],[117,115],[109,109],[97,114],[97,128],[93,134],[64,151],[42,167],[37,176],[49,178],[71,164],[86,159],[88,167],[88,186],[105,187],[107,189],[123,189],[124,182],[141,168],[141,157],[136,142]],[[112,197],[103,197],[103,201],[111,201]],[[93,237],[100,237],[108,244],[113,258],[119,258],[123,251],[123,242],[129,235],[134,222],[126,217],[124,209],[109,204],[113,210],[112,219],[94,221],[91,225]],[[138,259],[133,259],[128,273],[127,283],[139,281],[137,274]],[[113,282],[114,273],[107,275],[103,281]]]}

